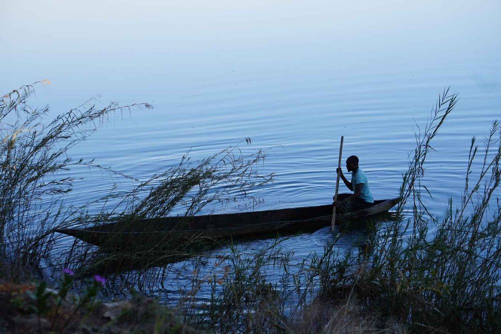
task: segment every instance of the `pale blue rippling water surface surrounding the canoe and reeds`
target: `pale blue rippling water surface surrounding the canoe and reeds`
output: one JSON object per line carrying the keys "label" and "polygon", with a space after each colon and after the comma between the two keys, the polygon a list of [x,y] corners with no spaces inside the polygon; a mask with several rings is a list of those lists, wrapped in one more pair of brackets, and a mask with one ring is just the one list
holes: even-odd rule
{"label": "pale blue rippling water surface surrounding the canoe and reeds", "polygon": [[[146,179],[190,149],[196,160],[250,137],[243,152],[270,149],[263,172],[277,175],[253,194],[264,200],[260,210],[330,202],[341,136],[344,157],[360,158],[374,197],[394,197],[416,124],[450,85],[460,101],[426,170],[427,203],[439,215],[449,196],[460,195],[470,138],[482,138],[501,115],[496,0],[7,0],[0,8],[9,14],[0,22],[2,92],[47,78],[53,85],[39,88],[34,102],[49,103],[54,114],[97,94],[103,106],[154,106],[111,117],[73,156]],[[86,176],[75,185],[76,204],[106,195],[115,182],[101,172],[72,173]],[[330,238],[324,228],[284,247],[301,259]]]}

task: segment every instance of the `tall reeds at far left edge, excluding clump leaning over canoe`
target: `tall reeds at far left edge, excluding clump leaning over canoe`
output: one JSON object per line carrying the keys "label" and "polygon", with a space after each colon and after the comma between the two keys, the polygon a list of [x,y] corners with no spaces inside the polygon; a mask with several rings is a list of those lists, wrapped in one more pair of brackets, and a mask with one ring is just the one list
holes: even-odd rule
{"label": "tall reeds at far left edge, excluding clump leaning over canoe", "polygon": [[49,106],[33,108],[28,103],[37,84],[50,82],[23,86],[0,101],[0,271],[12,279],[33,274],[51,250],[52,228],[75,218],[78,208],[61,204],[75,177],[61,175],[77,166],[113,172],[93,161],[74,160],[68,151],[110,113],[151,108],[147,103],[110,103],[100,109],[90,100],[47,121]]}

